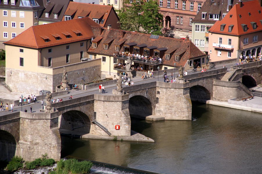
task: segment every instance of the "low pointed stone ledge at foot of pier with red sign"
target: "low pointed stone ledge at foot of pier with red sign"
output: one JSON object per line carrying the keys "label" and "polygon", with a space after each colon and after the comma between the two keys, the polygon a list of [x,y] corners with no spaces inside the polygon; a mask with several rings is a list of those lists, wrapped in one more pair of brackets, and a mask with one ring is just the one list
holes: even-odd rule
{"label": "low pointed stone ledge at foot of pier with red sign", "polygon": [[121,141],[135,141],[135,142],[155,142],[153,139],[132,130],[131,130],[131,136],[117,136],[117,137],[94,135],[90,133],[70,131],[67,129],[60,129],[60,134],[70,137],[80,137],[84,139],[108,139],[108,140],[121,140]]}

